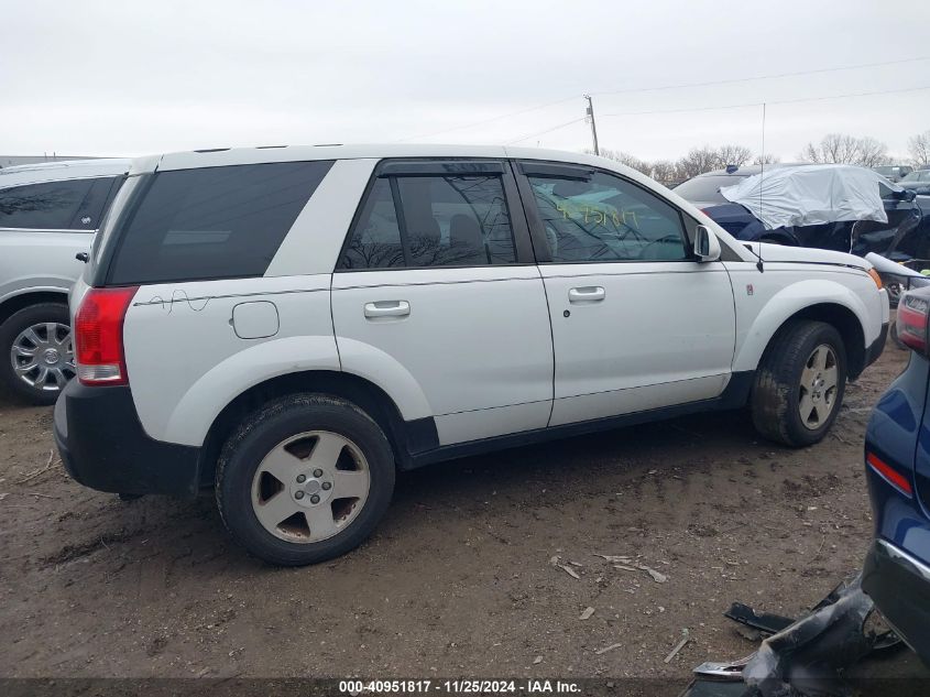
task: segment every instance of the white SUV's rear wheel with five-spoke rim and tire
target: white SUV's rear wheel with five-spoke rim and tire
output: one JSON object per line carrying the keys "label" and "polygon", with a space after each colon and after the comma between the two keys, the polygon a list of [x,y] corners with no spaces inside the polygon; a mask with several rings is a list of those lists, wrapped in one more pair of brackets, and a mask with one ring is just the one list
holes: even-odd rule
{"label": "white SUV's rear wheel with five-spoke rim and tire", "polygon": [[374,530],[394,491],[394,457],[346,400],[295,394],[248,417],[217,462],[216,497],[233,538],[281,566],[346,554]]}

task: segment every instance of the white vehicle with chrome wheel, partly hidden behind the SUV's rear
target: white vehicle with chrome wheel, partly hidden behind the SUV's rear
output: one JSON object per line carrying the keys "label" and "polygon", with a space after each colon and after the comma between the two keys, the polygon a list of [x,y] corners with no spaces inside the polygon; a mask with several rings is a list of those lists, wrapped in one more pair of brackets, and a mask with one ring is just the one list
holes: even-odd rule
{"label": "white vehicle with chrome wheel, partly hidden behind the SUV's rear", "polygon": [[0,170],[0,383],[52,404],[74,377],[67,296],[129,160]]}

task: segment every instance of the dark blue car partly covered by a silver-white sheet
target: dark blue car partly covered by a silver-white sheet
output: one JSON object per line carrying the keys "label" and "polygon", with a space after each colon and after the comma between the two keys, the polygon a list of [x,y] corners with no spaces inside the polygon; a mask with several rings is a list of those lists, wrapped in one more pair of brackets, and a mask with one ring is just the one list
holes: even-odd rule
{"label": "dark blue car partly covered by a silver-white sheet", "polygon": [[[789,165],[766,165],[765,170],[783,166]],[[730,165],[725,170],[699,174],[674,190],[738,240],[832,249],[860,257],[875,252],[894,261],[930,257],[930,197],[918,197],[915,192],[879,184],[888,222],[857,220],[768,230],[747,208],[726,200],[720,193],[722,187],[738,184],[759,172],[759,165]]]}

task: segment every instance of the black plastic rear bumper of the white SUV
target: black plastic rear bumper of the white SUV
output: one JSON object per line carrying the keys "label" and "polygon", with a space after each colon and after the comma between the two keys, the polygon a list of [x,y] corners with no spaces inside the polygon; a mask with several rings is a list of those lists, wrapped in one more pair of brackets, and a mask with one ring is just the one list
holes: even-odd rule
{"label": "black plastic rear bumper of the white SUV", "polygon": [[113,493],[196,495],[200,448],[142,428],[128,386],[68,383],[55,403],[55,445],[75,481]]}

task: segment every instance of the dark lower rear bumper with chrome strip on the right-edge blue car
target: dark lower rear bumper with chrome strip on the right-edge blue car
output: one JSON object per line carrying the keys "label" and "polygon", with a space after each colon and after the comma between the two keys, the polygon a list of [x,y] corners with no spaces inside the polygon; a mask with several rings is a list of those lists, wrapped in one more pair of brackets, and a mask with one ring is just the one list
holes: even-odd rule
{"label": "dark lower rear bumper with chrome strip on the right-edge blue car", "polygon": [[862,588],[898,635],[930,665],[930,566],[878,538],[865,558]]}

